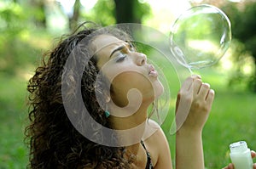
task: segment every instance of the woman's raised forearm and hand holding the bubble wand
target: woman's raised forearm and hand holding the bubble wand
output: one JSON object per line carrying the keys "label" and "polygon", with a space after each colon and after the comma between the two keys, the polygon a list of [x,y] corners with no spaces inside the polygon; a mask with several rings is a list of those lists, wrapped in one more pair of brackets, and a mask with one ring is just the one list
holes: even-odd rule
{"label": "woman's raised forearm and hand holding the bubble wand", "polygon": [[213,90],[201,82],[200,76],[191,76],[183,83],[177,96],[177,169],[205,168],[201,132],[213,99]]}

